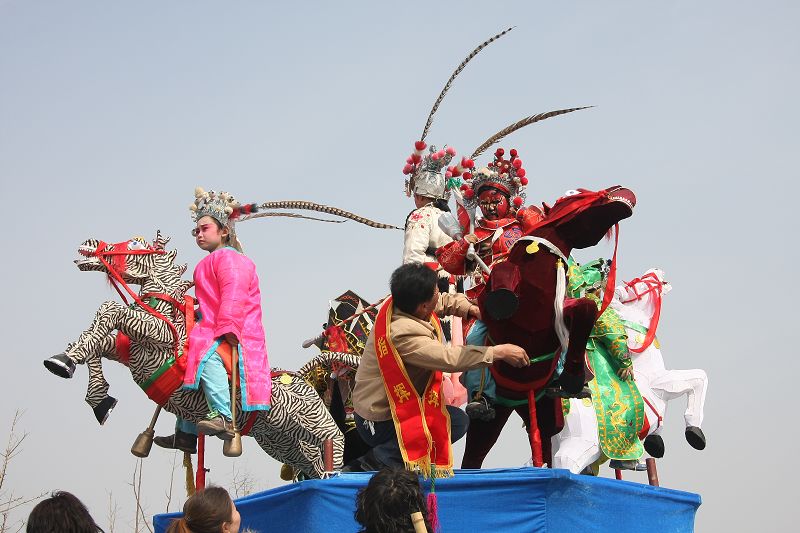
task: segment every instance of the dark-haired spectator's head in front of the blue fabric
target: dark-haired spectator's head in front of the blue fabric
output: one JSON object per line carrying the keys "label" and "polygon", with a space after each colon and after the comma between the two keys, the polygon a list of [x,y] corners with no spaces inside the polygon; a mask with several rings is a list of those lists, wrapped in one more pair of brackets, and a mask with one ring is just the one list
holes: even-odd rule
{"label": "dark-haired spectator's head in front of the blue fabric", "polygon": [[359,533],[414,533],[411,513],[417,511],[433,531],[417,474],[403,468],[379,470],[356,496]]}

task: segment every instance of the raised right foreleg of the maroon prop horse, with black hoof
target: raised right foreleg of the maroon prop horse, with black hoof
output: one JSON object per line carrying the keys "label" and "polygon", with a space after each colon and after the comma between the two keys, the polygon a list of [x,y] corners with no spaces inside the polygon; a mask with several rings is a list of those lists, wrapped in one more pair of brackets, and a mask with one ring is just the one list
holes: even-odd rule
{"label": "raised right foreleg of the maroon prop horse, with black hoof", "polygon": [[564,322],[569,329],[569,346],[564,361],[564,371],[559,377],[561,388],[577,394],[586,383],[584,357],[586,343],[597,319],[597,305],[586,298],[567,299],[564,302]]}

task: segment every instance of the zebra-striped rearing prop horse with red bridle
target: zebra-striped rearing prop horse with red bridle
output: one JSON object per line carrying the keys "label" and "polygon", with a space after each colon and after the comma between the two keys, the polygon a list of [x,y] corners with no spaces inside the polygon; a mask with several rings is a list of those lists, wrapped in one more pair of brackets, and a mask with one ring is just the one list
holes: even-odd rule
{"label": "zebra-striped rearing prop horse with red bridle", "polygon": [[[89,239],[78,248],[78,269],[104,272],[123,299],[120,287],[135,300],[131,305],[103,303],[78,340],[45,361],[48,370],[65,378],[72,377],[75,365],[88,367],[86,402],[101,424],[117,403],[108,395],[103,358],[128,366],[134,381],[166,411],[192,422],[208,411],[202,391],[185,390],[174,378],[177,389],[163,385],[180,366],[173,358],[185,349],[187,321],[194,318],[193,306],[185,303],[192,284],[181,279],[186,265],[174,264],[177,251],[165,250],[168,241],[158,232],[152,244],[143,238],[116,244]],[[140,286],[138,294],[129,284]],[[314,388],[298,374],[272,373],[271,409],[258,411],[250,423],[248,434],[265,452],[308,477],[324,476],[327,439],[333,441],[334,468],[342,464],[344,437]]]}

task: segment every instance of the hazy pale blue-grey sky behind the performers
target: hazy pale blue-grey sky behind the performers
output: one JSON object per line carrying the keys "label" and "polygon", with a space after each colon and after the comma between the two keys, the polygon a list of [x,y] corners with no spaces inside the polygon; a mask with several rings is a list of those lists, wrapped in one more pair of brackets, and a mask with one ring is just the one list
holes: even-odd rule
{"label": "hazy pale blue-grey sky behind the performers", "polygon": [[[83,401],[85,367],[66,381],[42,366],[117,299],[73,265],[84,239],[160,228],[193,267],[196,185],[402,225],[412,202],[401,169],[431,104],[475,45],[515,25],[456,80],[429,140],[469,152],[525,115],[597,106],[503,145],[519,149],[532,202],[618,183],[638,196],[621,225],[620,276],[666,271],[667,365],[710,378],[708,447],[688,446],[684,402],[673,403],[662,485],[702,495],[698,531],[796,527],[797,424],[784,408],[800,370],[799,15],[792,1],[0,0],[0,438],[15,409],[29,432],[6,488],[73,491],[104,526],[111,493],[117,528],[133,519],[128,450],[152,403],[107,364],[119,405],[101,427]],[[261,277],[270,362],[287,368],[314,355],[300,343],[328,300],[348,288],[382,297],[402,252],[400,232],[353,223],[261,219],[239,235]],[[158,433],[173,420],[163,415]],[[282,484],[277,461],[245,441],[236,460],[210,441],[209,481],[228,485],[238,469],[258,490]],[[512,419],[486,466],[529,454]],[[144,462],[151,514],[165,510],[172,460],[154,448]],[[171,510],[182,479],[176,470]]]}

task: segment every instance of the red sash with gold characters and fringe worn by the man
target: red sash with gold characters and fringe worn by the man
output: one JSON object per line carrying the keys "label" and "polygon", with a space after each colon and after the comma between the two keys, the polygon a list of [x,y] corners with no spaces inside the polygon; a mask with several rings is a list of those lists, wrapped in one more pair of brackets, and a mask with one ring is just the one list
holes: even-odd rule
{"label": "red sash with gold characters and fringe worn by the man", "polygon": [[[381,307],[375,321],[375,354],[389,397],[397,442],[405,467],[419,470],[424,477],[451,477],[453,450],[450,445],[450,415],[442,396],[442,373],[433,372],[420,398],[408,377],[403,360],[391,337],[392,299]],[[442,326],[436,315],[431,324],[441,342]]]}

